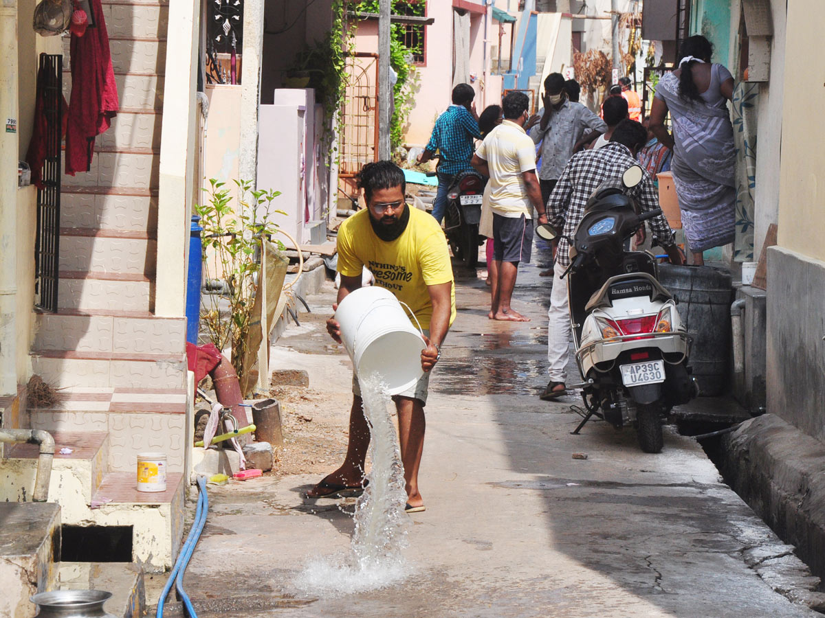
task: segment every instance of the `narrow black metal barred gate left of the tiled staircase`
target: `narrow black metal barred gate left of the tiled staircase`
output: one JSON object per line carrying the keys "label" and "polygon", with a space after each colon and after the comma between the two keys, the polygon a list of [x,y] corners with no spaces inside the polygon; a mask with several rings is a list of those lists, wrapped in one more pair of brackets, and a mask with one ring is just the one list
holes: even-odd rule
{"label": "narrow black metal barred gate left of the tiled staircase", "polygon": [[40,54],[38,96],[46,118],[43,188],[37,190],[35,307],[57,311],[60,243],[60,163],[63,119],[63,55]]}

